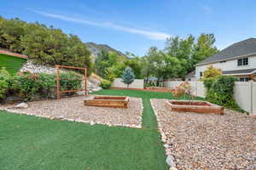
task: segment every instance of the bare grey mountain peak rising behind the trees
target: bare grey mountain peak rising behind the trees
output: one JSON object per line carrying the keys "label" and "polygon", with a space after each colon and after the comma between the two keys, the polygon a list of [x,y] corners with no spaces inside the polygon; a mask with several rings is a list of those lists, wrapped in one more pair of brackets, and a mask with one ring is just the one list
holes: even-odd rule
{"label": "bare grey mountain peak rising behind the trees", "polygon": [[[125,56],[122,52],[109,47],[107,44],[96,44],[94,42],[85,42],[85,45],[90,50],[90,53],[96,58],[99,54],[102,53],[102,51],[105,52],[114,52],[119,55]],[[125,56],[126,57],[126,56]]]}

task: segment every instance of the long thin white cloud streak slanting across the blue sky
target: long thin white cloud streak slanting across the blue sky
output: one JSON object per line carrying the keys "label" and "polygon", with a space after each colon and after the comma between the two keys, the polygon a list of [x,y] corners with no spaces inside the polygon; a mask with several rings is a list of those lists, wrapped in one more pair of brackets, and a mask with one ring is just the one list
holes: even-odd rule
{"label": "long thin white cloud streak slanting across the blue sky", "polygon": [[119,30],[119,31],[125,31],[125,32],[130,32],[133,34],[139,34],[139,35],[143,35],[145,37],[148,37],[148,38],[154,39],[154,40],[166,40],[167,37],[171,37],[169,34],[167,34],[165,32],[160,32],[160,31],[144,31],[144,30],[140,30],[140,29],[136,29],[136,28],[119,26],[119,25],[115,25],[112,23],[106,23],[106,22],[100,23],[100,22],[92,22],[90,20],[80,20],[80,19],[76,19],[73,17],[64,16],[61,14],[50,14],[50,13],[44,13],[44,12],[40,12],[40,11],[33,11],[33,12],[35,12],[37,14],[42,14],[44,16],[48,16],[51,18],[55,18],[55,19],[66,20],[69,22],[80,23],[80,24],[85,24],[85,25],[90,25],[90,26],[108,27],[108,28],[112,28],[115,30]]}

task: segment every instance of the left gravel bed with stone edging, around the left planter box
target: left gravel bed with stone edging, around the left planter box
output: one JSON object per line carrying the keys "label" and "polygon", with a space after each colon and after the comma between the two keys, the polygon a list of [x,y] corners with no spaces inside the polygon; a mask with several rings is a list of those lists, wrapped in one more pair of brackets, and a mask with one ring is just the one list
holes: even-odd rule
{"label": "left gravel bed with stone edging, around the left planter box", "polygon": [[85,106],[84,99],[93,97],[78,96],[57,101],[55,99],[28,102],[27,109],[14,109],[15,105],[0,105],[0,109],[20,114],[43,116],[91,125],[142,127],[143,102],[139,98],[129,98],[128,109]]}

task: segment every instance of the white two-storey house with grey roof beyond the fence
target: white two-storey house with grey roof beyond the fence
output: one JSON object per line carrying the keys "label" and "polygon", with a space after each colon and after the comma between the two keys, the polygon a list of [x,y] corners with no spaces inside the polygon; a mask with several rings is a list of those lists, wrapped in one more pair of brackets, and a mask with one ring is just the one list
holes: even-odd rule
{"label": "white two-storey house with grey roof beyond the fence", "polygon": [[238,77],[241,82],[256,82],[256,38],[236,42],[195,65],[195,79],[202,77],[209,65],[221,69],[224,75]]}

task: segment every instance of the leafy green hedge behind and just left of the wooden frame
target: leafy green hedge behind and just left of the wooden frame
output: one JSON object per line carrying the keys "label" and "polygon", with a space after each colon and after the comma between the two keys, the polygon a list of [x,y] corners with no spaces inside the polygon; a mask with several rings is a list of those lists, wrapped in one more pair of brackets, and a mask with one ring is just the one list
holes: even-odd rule
{"label": "leafy green hedge behind and just left of the wooden frame", "polygon": [[[56,76],[53,74],[30,72],[18,73],[10,81],[10,90],[14,91],[25,101],[33,100],[36,96],[49,99],[56,96]],[[81,88],[82,76],[74,71],[61,73],[61,90]]]}

